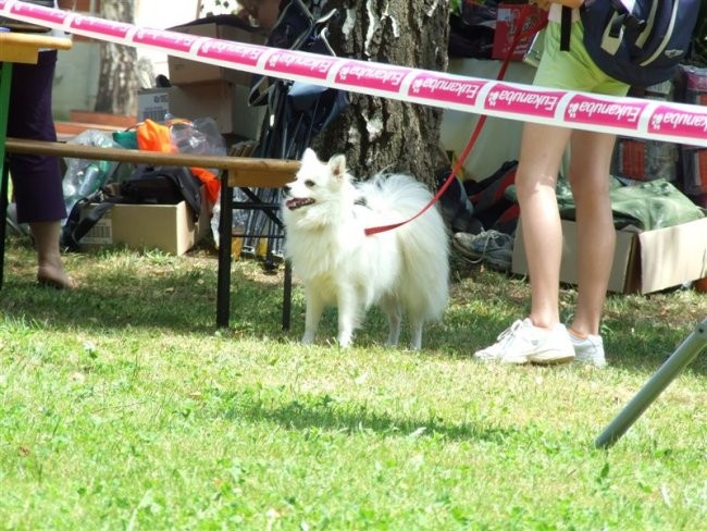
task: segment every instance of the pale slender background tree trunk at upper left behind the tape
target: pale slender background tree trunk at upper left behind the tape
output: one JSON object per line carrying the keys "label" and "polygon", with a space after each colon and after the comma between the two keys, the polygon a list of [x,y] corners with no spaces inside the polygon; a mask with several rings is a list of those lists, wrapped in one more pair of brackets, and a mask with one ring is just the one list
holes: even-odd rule
{"label": "pale slender background tree trunk at upper left behind the tape", "polygon": [[[134,2],[102,0],[100,16],[109,21],[134,22]],[[101,42],[101,67],[96,96],[96,112],[134,116],[137,114],[137,50]]]}

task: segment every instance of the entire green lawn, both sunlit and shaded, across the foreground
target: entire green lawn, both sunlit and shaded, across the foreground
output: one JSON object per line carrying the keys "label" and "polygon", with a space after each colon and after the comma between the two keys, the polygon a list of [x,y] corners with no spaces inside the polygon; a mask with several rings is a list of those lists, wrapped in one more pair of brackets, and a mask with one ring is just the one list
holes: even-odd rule
{"label": "entire green lawn, both sunlit and shaded, across the foreground", "polygon": [[[280,328],[282,275],[216,260],[70,255],[75,292],[8,249],[0,292],[0,529],[705,529],[707,360],[610,450],[593,441],[707,316],[689,289],[612,296],[609,368],[479,365],[526,311],[522,279],[457,274],[424,350]],[[575,298],[563,289],[565,314]],[[328,341],[327,341],[328,339]]]}

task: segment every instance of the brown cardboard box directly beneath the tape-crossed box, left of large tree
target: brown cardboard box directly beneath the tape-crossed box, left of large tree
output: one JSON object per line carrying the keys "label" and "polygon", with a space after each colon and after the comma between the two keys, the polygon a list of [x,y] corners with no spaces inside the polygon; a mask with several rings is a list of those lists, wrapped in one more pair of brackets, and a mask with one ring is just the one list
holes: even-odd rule
{"label": "brown cardboard box directly beneath the tape-crossed box, left of large tree", "polygon": [[221,134],[256,139],[265,107],[250,107],[248,92],[248,87],[227,82],[172,87],[170,112],[187,120],[211,116]]}

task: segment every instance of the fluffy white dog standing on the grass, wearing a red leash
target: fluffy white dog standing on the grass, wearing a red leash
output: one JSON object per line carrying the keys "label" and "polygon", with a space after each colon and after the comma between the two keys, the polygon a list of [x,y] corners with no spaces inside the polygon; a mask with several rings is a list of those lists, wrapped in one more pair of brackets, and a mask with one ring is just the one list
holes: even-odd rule
{"label": "fluffy white dog standing on the grass, wearing a red leash", "polygon": [[405,312],[411,347],[421,347],[424,322],[439,319],[448,299],[449,239],[442,215],[434,206],[392,231],[367,236],[364,229],[407,220],[431,198],[408,175],[355,184],[343,155],[322,162],[306,150],[283,199],[285,257],[307,298],[303,343],[314,341],[324,308],[336,306],[338,343],[348,347],[377,304],[388,316],[387,344],[398,344]]}

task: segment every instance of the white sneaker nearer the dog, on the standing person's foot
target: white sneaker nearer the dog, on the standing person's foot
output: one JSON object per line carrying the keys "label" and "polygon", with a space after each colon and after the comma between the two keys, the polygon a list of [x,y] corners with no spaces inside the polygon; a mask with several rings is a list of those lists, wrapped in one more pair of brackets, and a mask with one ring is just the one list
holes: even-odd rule
{"label": "white sneaker nearer the dog, on the standing person's foot", "polygon": [[501,363],[563,363],[574,359],[570,334],[562,324],[551,330],[534,326],[530,319],[516,321],[497,342],[474,353],[480,361]]}

